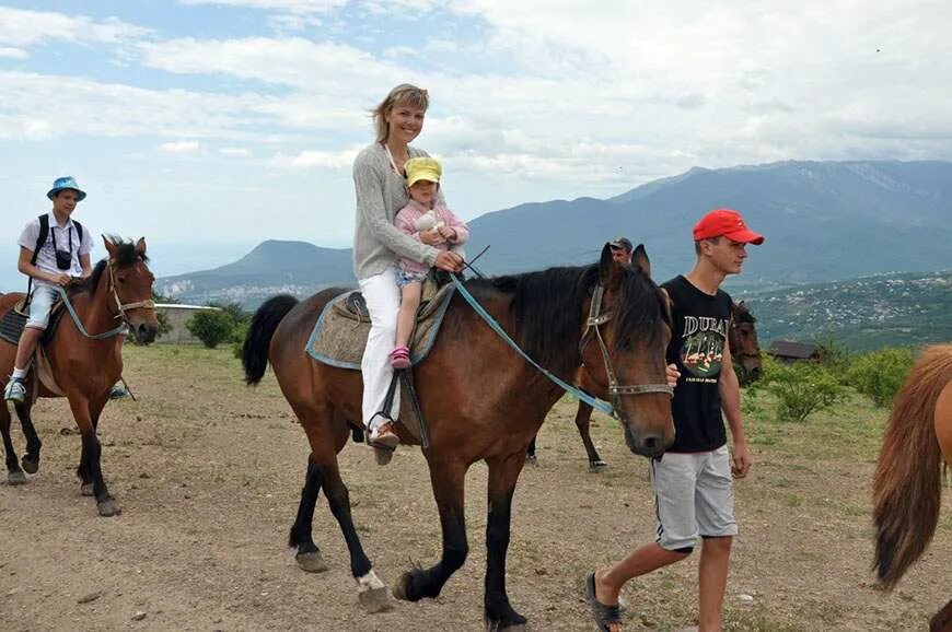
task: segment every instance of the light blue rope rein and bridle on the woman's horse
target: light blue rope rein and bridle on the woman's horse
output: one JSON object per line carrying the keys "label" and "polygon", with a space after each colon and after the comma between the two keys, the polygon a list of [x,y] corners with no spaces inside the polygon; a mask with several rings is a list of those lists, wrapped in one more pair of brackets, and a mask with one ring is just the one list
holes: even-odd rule
{"label": "light blue rope rein and bridle on the woman's horse", "polygon": [[[478,301],[476,301],[476,299],[473,296],[473,294],[469,293],[468,290],[466,290],[466,286],[460,281],[460,279],[456,277],[456,274],[450,274],[450,279],[453,281],[453,285],[456,286],[456,291],[460,292],[460,295],[463,296],[463,299],[469,304],[469,306],[473,307],[473,309],[486,321],[487,325],[489,325],[489,328],[492,329],[494,331],[496,331],[496,333],[498,333],[499,337],[502,338],[502,340],[507,344],[512,347],[512,349],[514,349],[515,352],[519,353],[526,362],[532,364],[539,373],[542,373],[543,375],[548,377],[552,382],[554,382],[556,385],[558,385],[562,390],[565,390],[569,395],[572,395],[572,396],[577,397],[578,399],[584,401],[585,403],[588,403],[589,406],[591,406],[595,410],[597,410],[600,412],[604,412],[605,414],[607,414],[609,417],[614,417],[617,419],[618,416],[615,412],[615,406],[613,403],[616,402],[618,396],[620,396],[623,394],[624,395],[634,395],[636,393],[667,393],[667,394],[673,393],[673,389],[670,386],[667,386],[666,384],[664,384],[664,385],[645,384],[645,385],[638,385],[638,386],[620,386],[620,387],[617,386],[617,381],[614,379],[615,373],[614,373],[614,370],[612,368],[611,361],[608,360],[607,348],[605,347],[604,341],[602,341],[602,335],[599,332],[597,325],[592,325],[593,319],[600,320],[600,323],[599,323],[599,325],[600,325],[602,323],[607,323],[612,317],[611,313],[603,314],[601,317],[599,316],[599,311],[601,308],[601,297],[602,297],[602,292],[600,292],[600,290],[604,291],[604,288],[602,288],[601,284],[599,284],[596,288],[596,292],[599,292],[597,307],[595,307],[595,305],[596,305],[595,296],[593,295],[593,297],[592,297],[593,307],[592,307],[592,312],[590,312],[590,314],[589,314],[589,321],[588,321],[589,327],[585,329],[585,332],[582,335],[582,339],[579,342],[579,344],[581,346],[585,341],[585,337],[589,335],[591,328],[594,327],[595,333],[597,335],[599,340],[602,343],[602,350],[603,350],[602,353],[603,353],[603,358],[605,360],[605,366],[609,371],[609,373],[608,373],[608,375],[609,375],[609,377],[608,377],[609,391],[612,393],[613,403],[608,403],[606,401],[603,401],[603,400],[599,399],[597,397],[592,397],[591,395],[589,395],[584,390],[567,383],[565,379],[561,379],[557,375],[554,375],[549,371],[543,368],[535,360],[530,358],[529,354],[519,347],[519,344],[515,343],[515,341],[509,336],[509,333],[507,333],[506,330],[502,329],[502,327],[499,325],[499,323],[497,323],[496,319],[492,318],[492,316],[486,311],[486,308],[483,307],[483,305],[480,305]],[[617,389],[623,389],[623,390],[612,390],[611,385],[614,385]],[[662,387],[663,387],[663,390],[661,389]],[[629,391],[627,389],[632,389],[632,390]]]}

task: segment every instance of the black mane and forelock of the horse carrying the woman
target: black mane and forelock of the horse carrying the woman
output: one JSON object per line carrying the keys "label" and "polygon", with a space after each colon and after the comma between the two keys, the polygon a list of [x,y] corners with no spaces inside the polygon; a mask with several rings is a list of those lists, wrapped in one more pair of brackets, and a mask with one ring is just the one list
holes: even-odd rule
{"label": "black mane and forelock of the horse carrying the woman", "polygon": [[[654,282],[635,268],[623,266],[620,270],[612,319],[616,347],[624,347],[646,332],[655,333],[654,326],[664,318]],[[542,366],[558,375],[569,375],[581,362],[577,342],[587,317],[581,306],[597,282],[595,264],[471,280],[467,286],[477,295],[511,295],[513,338]]]}

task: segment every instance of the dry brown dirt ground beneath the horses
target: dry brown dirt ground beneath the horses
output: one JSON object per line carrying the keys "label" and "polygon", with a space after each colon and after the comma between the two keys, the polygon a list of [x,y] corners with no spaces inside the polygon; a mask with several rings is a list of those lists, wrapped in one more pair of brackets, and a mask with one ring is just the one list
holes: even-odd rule
{"label": "dry brown dirt ground beneath the horses", "polygon": [[[62,400],[34,419],[39,473],[0,485],[0,630],[481,630],[486,470],[468,478],[471,557],[437,600],[365,615],[340,531],[322,499],[314,536],[330,569],[307,574],[286,548],[307,454],[270,376],[241,382],[231,351],[128,348],[139,401],[107,406],[103,470],[123,507],[96,515],[80,496],[80,442]],[[806,424],[748,418],[755,466],[739,482],[741,536],[728,585],[729,630],[921,630],[952,597],[952,494],[924,559],[891,595],[872,587],[869,479],[885,413],[854,402]],[[585,573],[654,532],[647,463],[596,416],[611,467],[587,472],[562,401],[539,437],[513,508],[508,587],[533,630],[591,630]],[[14,422],[18,449],[22,434]],[[437,560],[439,520],[426,464],[402,448],[386,468],[371,450],[341,458],[368,554],[390,585]],[[5,477],[3,477],[5,479]],[[694,624],[696,555],[630,585],[626,630]]]}

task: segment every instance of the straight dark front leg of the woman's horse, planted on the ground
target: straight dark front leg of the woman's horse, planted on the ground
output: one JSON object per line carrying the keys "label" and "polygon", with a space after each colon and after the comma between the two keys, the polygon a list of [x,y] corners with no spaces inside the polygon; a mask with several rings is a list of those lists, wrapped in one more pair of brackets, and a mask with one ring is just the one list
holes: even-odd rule
{"label": "straight dark front leg of the woman's horse, planted on the ground", "polygon": [[484,609],[489,630],[522,630],[525,617],[513,610],[506,594],[506,554],[509,550],[509,528],[512,494],[522,471],[522,455],[509,455],[488,460],[489,516],[486,520],[486,593]]}

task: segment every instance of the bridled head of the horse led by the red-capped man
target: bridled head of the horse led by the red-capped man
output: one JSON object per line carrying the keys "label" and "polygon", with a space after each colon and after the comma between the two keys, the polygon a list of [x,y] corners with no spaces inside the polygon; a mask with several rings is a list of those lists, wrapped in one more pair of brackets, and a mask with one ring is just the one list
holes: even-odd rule
{"label": "bridled head of the horse led by the red-capped man", "polygon": [[674,441],[665,372],[671,316],[651,280],[643,245],[628,266],[613,260],[605,244],[588,308],[580,351],[584,370],[602,391],[596,395],[611,401],[631,452],[660,456]]}

